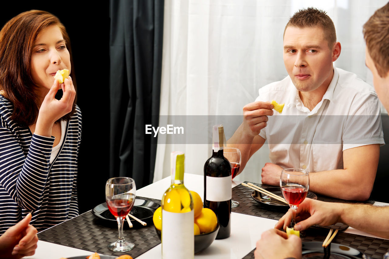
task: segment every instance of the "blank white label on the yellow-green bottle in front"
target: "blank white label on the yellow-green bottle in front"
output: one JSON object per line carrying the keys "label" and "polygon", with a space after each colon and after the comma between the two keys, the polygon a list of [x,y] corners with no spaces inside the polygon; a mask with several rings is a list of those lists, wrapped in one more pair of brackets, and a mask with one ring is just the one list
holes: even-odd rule
{"label": "blank white label on the yellow-green bottle in front", "polygon": [[194,211],[174,213],[162,210],[162,258],[195,257]]}

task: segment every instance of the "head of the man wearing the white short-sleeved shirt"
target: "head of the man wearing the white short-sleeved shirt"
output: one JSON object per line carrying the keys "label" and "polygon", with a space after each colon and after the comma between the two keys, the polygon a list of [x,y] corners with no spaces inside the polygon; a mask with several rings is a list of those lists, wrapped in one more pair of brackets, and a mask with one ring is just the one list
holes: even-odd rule
{"label": "head of the man wearing the white short-sleeved shirt", "polygon": [[296,12],[285,26],[283,48],[285,68],[296,89],[324,94],[341,50],[326,12],[312,7]]}

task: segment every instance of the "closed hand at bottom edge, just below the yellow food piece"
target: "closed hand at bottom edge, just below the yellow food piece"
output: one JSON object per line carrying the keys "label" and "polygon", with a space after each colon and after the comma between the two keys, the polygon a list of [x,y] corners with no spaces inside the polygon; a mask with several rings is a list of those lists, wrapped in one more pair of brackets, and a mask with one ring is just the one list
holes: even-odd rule
{"label": "closed hand at bottom edge, just below the yellow food piece", "polygon": [[262,233],[254,252],[255,259],[301,258],[301,238],[278,229],[269,229]]}

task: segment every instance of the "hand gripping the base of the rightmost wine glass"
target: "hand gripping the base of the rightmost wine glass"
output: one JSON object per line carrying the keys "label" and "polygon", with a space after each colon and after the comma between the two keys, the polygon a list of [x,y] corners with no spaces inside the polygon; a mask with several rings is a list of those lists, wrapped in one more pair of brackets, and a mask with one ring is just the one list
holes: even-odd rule
{"label": "hand gripping the base of the rightmost wine glass", "polygon": [[[340,222],[340,215],[342,207],[340,203],[321,202],[319,200],[312,200],[306,198],[299,206],[296,212],[296,221],[294,225],[295,230],[304,230],[319,224],[320,226],[329,226]],[[291,209],[275,224],[276,229],[286,229],[289,226],[292,218]]]}

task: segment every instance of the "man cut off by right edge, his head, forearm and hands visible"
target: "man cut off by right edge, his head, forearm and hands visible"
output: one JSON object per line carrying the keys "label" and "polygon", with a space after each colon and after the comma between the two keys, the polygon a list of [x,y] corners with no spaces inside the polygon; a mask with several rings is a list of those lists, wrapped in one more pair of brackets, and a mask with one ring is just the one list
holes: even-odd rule
{"label": "man cut off by right edge, his head, forearm and hands visible", "polygon": [[[373,83],[378,97],[389,111],[389,3],[378,9],[364,24],[363,35],[366,41],[366,66],[373,74]],[[362,183],[361,183],[362,184]],[[373,235],[389,238],[389,206],[378,207],[369,204],[345,204],[321,202],[305,199],[297,210],[303,219],[294,229],[304,230],[320,224],[328,226],[343,222],[348,226]],[[301,258],[301,239],[295,235],[287,238],[278,230],[291,221],[289,210],[275,225],[262,234],[258,240],[254,256],[262,258]]]}

